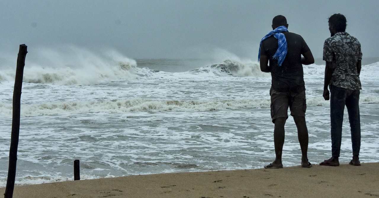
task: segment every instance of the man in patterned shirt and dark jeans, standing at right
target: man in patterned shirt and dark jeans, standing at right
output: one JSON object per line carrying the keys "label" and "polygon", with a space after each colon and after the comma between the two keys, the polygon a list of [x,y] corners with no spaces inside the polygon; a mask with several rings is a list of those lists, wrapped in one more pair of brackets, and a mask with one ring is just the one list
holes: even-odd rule
{"label": "man in patterned shirt and dark jeans, standing at right", "polygon": [[342,121],[346,106],[349,115],[353,157],[350,165],[359,166],[360,115],[359,94],[361,84],[362,51],[359,41],[346,30],[346,18],[342,14],[329,17],[330,38],[324,42],[323,60],[326,61],[324,93],[329,100],[330,88],[330,134],[332,139],[332,157],[320,165],[338,166],[342,139]]}

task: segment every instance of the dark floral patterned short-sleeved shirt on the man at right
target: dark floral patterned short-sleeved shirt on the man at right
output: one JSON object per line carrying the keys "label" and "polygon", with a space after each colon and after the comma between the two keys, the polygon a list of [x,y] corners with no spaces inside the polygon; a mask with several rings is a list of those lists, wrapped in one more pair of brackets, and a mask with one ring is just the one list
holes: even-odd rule
{"label": "dark floral patterned short-sleeved shirt on the man at right", "polygon": [[323,60],[332,62],[334,72],[330,84],[351,90],[362,89],[357,62],[362,60],[360,43],[347,32],[338,32],[324,42]]}

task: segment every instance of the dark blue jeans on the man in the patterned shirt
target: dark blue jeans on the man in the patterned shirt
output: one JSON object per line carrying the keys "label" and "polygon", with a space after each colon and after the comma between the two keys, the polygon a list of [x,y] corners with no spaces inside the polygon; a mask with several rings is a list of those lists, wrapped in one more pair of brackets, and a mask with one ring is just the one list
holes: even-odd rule
{"label": "dark blue jeans on the man in the patterned shirt", "polygon": [[350,90],[330,85],[330,134],[332,156],[340,156],[343,111],[348,109],[353,155],[360,150],[359,90]]}

